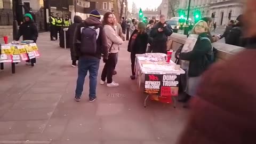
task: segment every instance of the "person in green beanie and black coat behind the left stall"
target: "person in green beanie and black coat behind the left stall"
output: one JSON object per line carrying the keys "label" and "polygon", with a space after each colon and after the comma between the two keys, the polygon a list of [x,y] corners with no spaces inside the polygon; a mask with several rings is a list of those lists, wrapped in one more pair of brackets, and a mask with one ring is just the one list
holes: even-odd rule
{"label": "person in green beanie and black coat behind the left stall", "polygon": [[[33,20],[32,15],[30,13],[26,13],[24,15],[24,20],[25,20],[25,22],[23,22],[20,25],[18,35],[17,35],[17,38],[15,40],[19,41],[20,37],[23,36],[23,41],[24,40],[31,40],[31,41],[34,41],[36,43],[37,37],[38,37],[38,29],[36,27],[36,24]],[[34,67],[34,65],[36,63],[36,58],[33,58],[31,60],[27,60],[26,62],[27,62],[26,65],[31,65],[31,66]]]}

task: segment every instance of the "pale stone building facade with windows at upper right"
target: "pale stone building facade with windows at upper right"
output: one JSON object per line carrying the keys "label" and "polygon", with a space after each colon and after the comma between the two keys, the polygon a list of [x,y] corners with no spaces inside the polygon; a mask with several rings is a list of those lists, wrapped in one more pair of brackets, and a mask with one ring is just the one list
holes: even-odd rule
{"label": "pale stone building facade with windows at upper right", "polygon": [[[170,0],[169,0],[170,1]],[[180,0],[179,9],[187,14],[189,0]],[[243,4],[238,0],[191,0],[190,18],[199,10],[202,17],[212,17],[219,26],[225,26],[228,20],[235,20],[243,13]]]}

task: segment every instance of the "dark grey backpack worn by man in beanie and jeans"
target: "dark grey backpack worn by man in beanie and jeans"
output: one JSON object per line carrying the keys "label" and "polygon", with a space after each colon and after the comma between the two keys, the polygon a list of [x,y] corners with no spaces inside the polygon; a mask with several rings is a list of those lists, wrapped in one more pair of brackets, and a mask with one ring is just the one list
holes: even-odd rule
{"label": "dark grey backpack worn by man in beanie and jeans", "polygon": [[81,52],[84,54],[95,54],[97,52],[97,39],[100,28],[82,27],[81,28]]}

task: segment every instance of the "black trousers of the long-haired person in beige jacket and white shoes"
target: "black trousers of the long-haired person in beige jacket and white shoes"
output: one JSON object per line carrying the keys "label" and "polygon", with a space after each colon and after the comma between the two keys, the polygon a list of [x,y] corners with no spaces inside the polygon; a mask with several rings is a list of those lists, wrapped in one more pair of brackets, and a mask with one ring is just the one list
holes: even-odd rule
{"label": "black trousers of the long-haired person in beige jacket and white shoes", "polygon": [[107,77],[107,83],[110,84],[113,82],[113,71],[115,70],[116,67],[116,54],[117,53],[110,53],[108,56],[108,60],[105,63],[105,66],[102,70],[101,74],[101,80],[106,81]]}

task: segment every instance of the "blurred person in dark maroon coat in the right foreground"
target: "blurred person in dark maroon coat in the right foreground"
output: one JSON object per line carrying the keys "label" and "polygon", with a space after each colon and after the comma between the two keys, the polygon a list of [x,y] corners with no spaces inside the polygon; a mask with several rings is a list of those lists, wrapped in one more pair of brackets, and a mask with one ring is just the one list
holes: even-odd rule
{"label": "blurred person in dark maroon coat in the right foreground", "polygon": [[244,51],[205,71],[177,144],[256,143],[256,3],[247,0]]}

